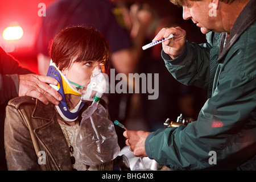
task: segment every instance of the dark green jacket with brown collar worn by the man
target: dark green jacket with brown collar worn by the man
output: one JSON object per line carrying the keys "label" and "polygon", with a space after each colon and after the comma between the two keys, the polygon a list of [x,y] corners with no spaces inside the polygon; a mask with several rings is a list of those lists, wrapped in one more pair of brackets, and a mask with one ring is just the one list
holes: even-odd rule
{"label": "dark green jacket with brown collar worn by the man", "polygon": [[149,158],[175,170],[256,169],[255,19],[255,0],[251,0],[225,47],[225,33],[220,39],[220,33],[210,32],[208,43],[187,42],[174,60],[162,51],[167,69],[178,81],[210,92],[197,121],[148,135]]}

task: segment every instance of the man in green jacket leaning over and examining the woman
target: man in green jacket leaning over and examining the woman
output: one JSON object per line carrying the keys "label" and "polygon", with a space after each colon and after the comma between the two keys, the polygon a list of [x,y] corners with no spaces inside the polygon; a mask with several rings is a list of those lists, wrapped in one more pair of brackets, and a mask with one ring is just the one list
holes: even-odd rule
{"label": "man in green jacket leaning over and examining the woman", "polygon": [[197,121],[125,131],[126,144],[135,156],[175,170],[255,170],[256,1],[171,2],[183,6],[183,18],[201,27],[208,43],[187,42],[179,27],[163,28],[153,41],[174,35],[163,43],[167,69],[183,84],[208,88],[209,98]]}

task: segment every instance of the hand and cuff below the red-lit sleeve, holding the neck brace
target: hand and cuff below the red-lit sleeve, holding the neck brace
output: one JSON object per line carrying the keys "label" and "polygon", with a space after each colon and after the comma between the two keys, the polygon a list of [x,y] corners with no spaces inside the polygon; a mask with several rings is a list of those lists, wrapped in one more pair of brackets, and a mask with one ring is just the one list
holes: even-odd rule
{"label": "hand and cuff below the red-lit sleeve, holding the neck brace", "polygon": [[57,80],[43,75],[0,75],[0,104],[18,96],[38,98],[44,104],[59,104],[61,96],[48,84],[57,85]]}

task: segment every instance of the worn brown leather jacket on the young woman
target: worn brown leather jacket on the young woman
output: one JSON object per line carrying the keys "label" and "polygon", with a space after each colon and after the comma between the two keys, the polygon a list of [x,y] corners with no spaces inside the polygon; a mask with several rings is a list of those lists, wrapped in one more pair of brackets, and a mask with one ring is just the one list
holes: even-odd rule
{"label": "worn brown leather jacket on the young woman", "polygon": [[[54,105],[31,97],[16,97],[6,107],[5,150],[9,170],[72,170],[68,143]],[[38,162],[39,151],[46,152],[45,164]],[[113,162],[97,168],[112,170]]]}

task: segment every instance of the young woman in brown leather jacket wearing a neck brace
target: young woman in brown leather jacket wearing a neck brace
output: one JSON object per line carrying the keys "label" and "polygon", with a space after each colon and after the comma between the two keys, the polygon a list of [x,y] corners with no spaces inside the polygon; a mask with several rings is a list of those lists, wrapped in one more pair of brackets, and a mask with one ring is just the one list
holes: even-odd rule
{"label": "young woman in brown leather jacket wearing a neck brace", "polygon": [[[55,36],[50,53],[48,75],[59,78],[57,89],[64,99],[59,106],[31,97],[9,102],[5,119],[8,169],[112,170],[112,162],[86,166],[75,144],[82,111],[92,103],[81,102],[81,85],[88,85],[95,69],[108,70],[108,42],[92,28],[69,27]],[[104,101],[100,103],[106,108]]]}

